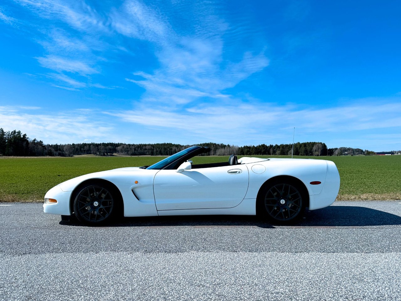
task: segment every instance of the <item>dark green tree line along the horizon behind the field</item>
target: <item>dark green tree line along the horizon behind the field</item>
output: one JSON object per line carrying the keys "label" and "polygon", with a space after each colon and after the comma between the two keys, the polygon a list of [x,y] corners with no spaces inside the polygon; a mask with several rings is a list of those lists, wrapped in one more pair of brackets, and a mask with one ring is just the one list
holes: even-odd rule
{"label": "dark green tree line along the horizon behind the field", "polygon": [[[251,155],[291,155],[294,156],[339,156],[339,155],[374,155],[369,150],[360,148],[327,148],[323,142],[296,142],[294,150],[292,144],[259,144],[236,146],[230,144],[201,143],[200,146],[209,146],[211,156],[240,156]],[[30,139],[21,131],[4,132],[0,128],[0,155],[2,156],[58,156],[72,157],[74,155],[113,154],[130,156],[170,156],[191,145],[174,143],[153,144],[126,144],[126,143],[72,143],[72,144],[44,144],[42,140]]]}

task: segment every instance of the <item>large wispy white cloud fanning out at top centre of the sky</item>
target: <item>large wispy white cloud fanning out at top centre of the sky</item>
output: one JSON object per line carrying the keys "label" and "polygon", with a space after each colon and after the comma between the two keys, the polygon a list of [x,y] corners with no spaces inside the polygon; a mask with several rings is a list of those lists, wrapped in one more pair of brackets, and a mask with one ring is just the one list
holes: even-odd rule
{"label": "large wispy white cloud fanning out at top centre of the sky", "polygon": [[[119,21],[113,21],[113,26],[125,20],[126,30],[119,32],[135,37],[140,35],[141,39],[156,44],[155,54],[160,62],[160,68],[154,70],[153,74],[136,72],[134,75],[140,75],[143,79],[126,79],[146,89],[143,102],[157,99],[159,102],[180,105],[199,98],[207,97],[213,101],[213,98],[224,95],[230,97],[226,89],[262,71],[269,64],[263,49],[258,49],[256,55],[253,51],[245,51],[239,61],[225,57],[223,36],[229,24],[214,14],[213,5],[193,12],[191,28],[175,28],[166,21],[166,17],[158,18],[156,11],[152,12],[142,4],[136,12],[139,10],[141,16],[148,16],[149,22],[126,18],[132,12],[127,9],[127,3],[132,7],[138,2],[127,1],[122,6],[122,12],[115,12],[115,19]],[[176,11],[178,15],[181,13],[184,12]],[[128,31],[127,28],[135,28],[135,31]]]}

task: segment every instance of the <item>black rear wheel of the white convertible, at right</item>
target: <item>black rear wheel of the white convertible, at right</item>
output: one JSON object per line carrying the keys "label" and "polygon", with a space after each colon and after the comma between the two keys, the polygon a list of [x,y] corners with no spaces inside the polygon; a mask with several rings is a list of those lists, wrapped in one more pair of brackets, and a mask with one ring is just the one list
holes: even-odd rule
{"label": "black rear wheel of the white convertible, at right", "polygon": [[259,202],[263,216],[268,220],[288,224],[300,219],[306,197],[298,183],[275,181],[262,189]]}

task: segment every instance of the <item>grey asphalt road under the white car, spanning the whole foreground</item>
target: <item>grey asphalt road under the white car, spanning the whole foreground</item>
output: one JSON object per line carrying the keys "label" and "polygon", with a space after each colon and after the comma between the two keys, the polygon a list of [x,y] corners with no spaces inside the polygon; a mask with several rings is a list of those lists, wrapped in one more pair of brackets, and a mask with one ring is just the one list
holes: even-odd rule
{"label": "grey asphalt road under the white car, spanning the whole foreground", "polygon": [[91,228],[0,203],[0,300],[401,300],[401,201]]}

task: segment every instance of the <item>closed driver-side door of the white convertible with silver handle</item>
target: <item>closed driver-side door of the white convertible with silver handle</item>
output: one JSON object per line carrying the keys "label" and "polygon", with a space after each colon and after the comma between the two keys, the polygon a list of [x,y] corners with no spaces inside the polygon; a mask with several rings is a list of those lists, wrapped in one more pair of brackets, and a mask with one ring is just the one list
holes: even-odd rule
{"label": "closed driver-side door of the white convertible with silver handle", "polygon": [[154,178],[157,210],[235,207],[249,184],[246,165],[160,170]]}

